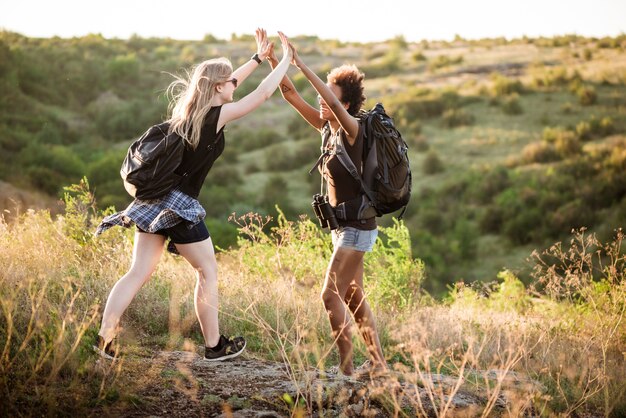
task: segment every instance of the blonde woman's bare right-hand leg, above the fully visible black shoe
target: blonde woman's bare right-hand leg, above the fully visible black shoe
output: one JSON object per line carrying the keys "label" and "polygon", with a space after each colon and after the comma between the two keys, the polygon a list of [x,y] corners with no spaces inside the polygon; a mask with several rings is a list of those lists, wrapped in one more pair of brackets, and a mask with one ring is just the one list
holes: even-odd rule
{"label": "blonde woman's bare right-hand leg, above the fully visible black shoe", "polygon": [[204,336],[204,345],[214,347],[219,342],[220,329],[217,320],[217,261],[213,242],[207,238],[191,244],[176,244],[176,249],[196,269],[196,316]]}

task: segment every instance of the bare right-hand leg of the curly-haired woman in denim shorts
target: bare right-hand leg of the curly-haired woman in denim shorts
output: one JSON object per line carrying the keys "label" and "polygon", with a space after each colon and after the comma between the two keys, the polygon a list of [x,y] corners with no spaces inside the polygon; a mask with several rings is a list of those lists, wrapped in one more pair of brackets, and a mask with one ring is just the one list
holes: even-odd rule
{"label": "bare right-hand leg of the curly-haired woman in denim shorts", "polygon": [[345,302],[354,315],[354,320],[359,328],[361,336],[365,341],[365,346],[372,359],[372,365],[377,369],[386,369],[387,364],[383,356],[383,349],[378,338],[376,330],[376,321],[374,314],[370,309],[365,293],[363,291],[363,261],[354,271],[354,279],[350,283],[350,287],[345,296]]}

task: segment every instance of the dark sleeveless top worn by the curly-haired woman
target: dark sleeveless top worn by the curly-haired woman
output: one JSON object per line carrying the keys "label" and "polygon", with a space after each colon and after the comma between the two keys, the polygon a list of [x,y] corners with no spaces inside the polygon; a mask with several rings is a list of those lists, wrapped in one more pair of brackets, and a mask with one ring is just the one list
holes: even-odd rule
{"label": "dark sleeveless top worn by the curly-haired woman", "polygon": [[[337,132],[331,134],[328,139],[327,146],[334,150],[337,142],[337,136],[341,135],[341,139],[346,152],[354,163],[354,166],[362,172],[363,170],[363,129],[359,123],[359,133],[357,134],[354,145],[350,145],[346,138],[345,132],[339,128]],[[330,128],[330,127],[329,127]],[[323,131],[323,130],[322,130]],[[323,137],[322,137],[323,140]],[[347,202],[361,195],[361,183],[352,177],[348,170],[341,164],[337,156],[331,152],[326,157],[322,166],[322,174],[328,182],[328,201],[331,206],[337,206],[342,202]],[[350,226],[352,228],[369,231],[376,229],[376,218],[347,221],[337,219],[339,225]]]}

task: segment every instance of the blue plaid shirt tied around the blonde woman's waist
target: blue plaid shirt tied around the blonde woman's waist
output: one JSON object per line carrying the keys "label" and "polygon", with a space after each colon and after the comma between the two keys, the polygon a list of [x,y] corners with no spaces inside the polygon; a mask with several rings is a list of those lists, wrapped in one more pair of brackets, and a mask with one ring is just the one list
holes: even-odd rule
{"label": "blue plaid shirt tied around the blonde woman's waist", "polygon": [[160,199],[133,200],[123,211],[102,219],[96,229],[96,235],[116,225],[129,228],[136,224],[142,230],[151,233],[170,228],[180,222],[187,222],[191,227],[201,222],[205,216],[206,211],[200,202],[174,189]]}

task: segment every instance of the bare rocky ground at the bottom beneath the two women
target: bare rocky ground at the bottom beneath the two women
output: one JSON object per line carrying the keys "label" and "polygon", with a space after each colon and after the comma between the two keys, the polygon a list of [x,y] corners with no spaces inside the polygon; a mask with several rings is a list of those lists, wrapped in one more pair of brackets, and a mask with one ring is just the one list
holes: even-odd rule
{"label": "bare rocky ground at the bottom beneath the two women", "polygon": [[[102,367],[109,367],[105,360],[99,361]],[[97,415],[441,416],[448,404],[443,415],[480,416],[489,404],[488,396],[453,390],[457,380],[442,375],[428,375],[426,385],[407,383],[393,372],[374,381],[325,375],[317,370],[294,376],[283,363],[244,356],[209,363],[195,353],[182,351],[159,352],[150,359],[126,358],[122,362],[121,373],[130,373],[132,376],[126,377],[137,383],[138,389],[132,397],[97,411]],[[454,395],[445,396],[442,392]],[[510,412],[505,392],[491,402],[495,416]]]}

